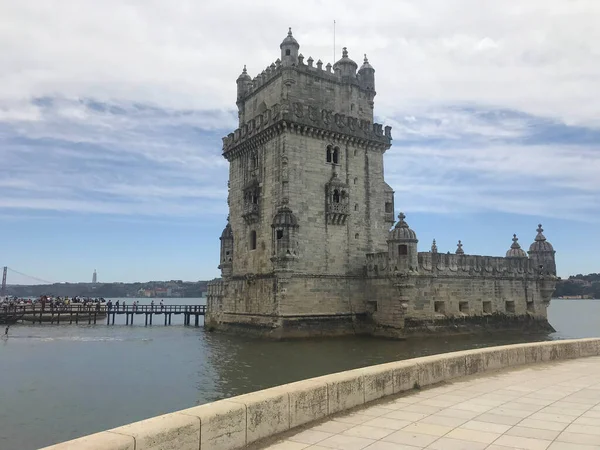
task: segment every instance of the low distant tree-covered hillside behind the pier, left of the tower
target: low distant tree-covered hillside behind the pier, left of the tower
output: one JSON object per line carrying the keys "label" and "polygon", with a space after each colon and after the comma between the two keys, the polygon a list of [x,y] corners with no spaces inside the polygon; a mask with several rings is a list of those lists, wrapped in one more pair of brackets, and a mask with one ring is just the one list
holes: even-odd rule
{"label": "low distant tree-covered hillside behind the pier, left of the tower", "polygon": [[7,294],[17,297],[201,297],[208,281],[148,281],[146,283],[55,283],[40,285],[9,285]]}

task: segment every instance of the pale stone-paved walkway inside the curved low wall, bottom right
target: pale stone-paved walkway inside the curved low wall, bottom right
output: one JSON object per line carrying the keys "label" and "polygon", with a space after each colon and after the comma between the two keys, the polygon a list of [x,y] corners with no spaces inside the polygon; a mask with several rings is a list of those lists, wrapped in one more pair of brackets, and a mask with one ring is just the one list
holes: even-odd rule
{"label": "pale stone-paved walkway inside the curved low wall, bottom right", "polygon": [[269,450],[600,450],[600,357],[463,378],[282,435]]}

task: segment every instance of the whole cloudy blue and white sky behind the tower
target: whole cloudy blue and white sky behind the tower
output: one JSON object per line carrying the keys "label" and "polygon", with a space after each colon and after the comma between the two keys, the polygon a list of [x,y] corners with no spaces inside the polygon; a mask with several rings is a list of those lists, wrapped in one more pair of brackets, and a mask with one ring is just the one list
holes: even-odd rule
{"label": "whole cloudy blue and white sky behind the tower", "polygon": [[[0,1],[8,283],[219,276],[235,79],[346,46],[376,70],[385,175],[442,252],[527,249],[600,272],[597,0]],[[336,21],[336,48],[333,21]]]}

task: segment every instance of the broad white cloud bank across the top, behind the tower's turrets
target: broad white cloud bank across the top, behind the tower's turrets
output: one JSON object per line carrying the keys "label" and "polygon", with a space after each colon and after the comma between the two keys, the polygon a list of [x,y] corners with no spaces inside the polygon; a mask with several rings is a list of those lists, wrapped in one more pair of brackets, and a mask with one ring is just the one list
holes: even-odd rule
{"label": "broad white cloud bank across the top, behind the tower's turrets", "polygon": [[0,99],[64,95],[234,108],[242,64],[278,57],[287,26],[305,56],[347,45],[377,69],[379,112],[474,102],[596,124],[596,0],[61,0],[2,2]]}

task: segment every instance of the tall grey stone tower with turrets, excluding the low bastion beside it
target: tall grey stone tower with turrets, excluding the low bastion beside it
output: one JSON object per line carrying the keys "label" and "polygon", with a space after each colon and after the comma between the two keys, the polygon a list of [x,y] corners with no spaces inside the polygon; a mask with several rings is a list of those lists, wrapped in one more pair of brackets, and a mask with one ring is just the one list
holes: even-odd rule
{"label": "tall grey stone tower with turrets, excluding the low bastion beside it", "polygon": [[355,326],[365,254],[387,249],[394,223],[383,178],[391,128],[373,123],[375,69],[366,55],[359,69],[346,48],[333,66],[305,61],[291,29],[280,51],[236,82],[239,128],[223,138],[223,280],[209,291],[207,322],[287,335]]}

